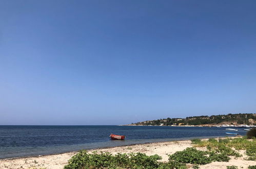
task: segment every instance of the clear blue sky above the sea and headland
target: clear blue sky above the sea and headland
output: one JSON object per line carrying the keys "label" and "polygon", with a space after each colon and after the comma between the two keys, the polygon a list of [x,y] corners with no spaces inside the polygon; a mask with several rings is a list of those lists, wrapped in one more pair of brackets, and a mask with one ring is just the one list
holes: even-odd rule
{"label": "clear blue sky above the sea and headland", "polygon": [[256,112],[256,1],[0,1],[0,124]]}

